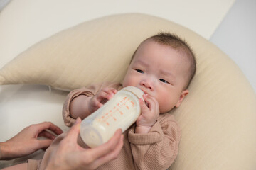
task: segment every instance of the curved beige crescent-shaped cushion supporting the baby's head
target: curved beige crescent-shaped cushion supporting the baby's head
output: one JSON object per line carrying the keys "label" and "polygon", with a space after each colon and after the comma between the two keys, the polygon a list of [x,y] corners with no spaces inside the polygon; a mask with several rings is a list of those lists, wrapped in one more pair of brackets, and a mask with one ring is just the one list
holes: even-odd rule
{"label": "curved beige crescent-shaped cushion supporting the baby's head", "polygon": [[170,169],[254,169],[256,97],[240,69],[215,45],[154,16],[123,14],[81,23],[29,48],[0,70],[1,84],[76,89],[121,81],[139,43],[159,31],[185,38],[198,69],[180,108],[182,137]]}

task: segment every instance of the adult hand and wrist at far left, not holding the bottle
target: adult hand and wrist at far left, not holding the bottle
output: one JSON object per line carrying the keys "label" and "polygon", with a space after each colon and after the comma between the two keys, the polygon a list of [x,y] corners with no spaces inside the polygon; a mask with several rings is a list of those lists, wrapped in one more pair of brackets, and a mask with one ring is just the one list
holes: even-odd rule
{"label": "adult hand and wrist at far left, not holding the bottle", "polygon": [[[55,139],[55,135],[46,130],[51,130],[55,135],[60,135],[63,132],[58,126],[50,122],[30,125],[10,140],[0,143],[1,159],[23,157],[36,152],[38,149],[49,147]],[[38,137],[46,137],[46,139],[38,140]]]}

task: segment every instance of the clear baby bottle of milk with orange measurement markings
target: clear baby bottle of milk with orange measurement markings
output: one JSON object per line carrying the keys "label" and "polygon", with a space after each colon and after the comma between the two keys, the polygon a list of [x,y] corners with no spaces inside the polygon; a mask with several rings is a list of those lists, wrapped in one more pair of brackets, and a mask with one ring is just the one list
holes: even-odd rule
{"label": "clear baby bottle of milk with orange measurement markings", "polygon": [[97,147],[110,140],[114,132],[122,132],[132,125],[139,115],[139,98],[144,92],[134,86],[124,87],[94,113],[82,120],[80,136],[89,147]]}

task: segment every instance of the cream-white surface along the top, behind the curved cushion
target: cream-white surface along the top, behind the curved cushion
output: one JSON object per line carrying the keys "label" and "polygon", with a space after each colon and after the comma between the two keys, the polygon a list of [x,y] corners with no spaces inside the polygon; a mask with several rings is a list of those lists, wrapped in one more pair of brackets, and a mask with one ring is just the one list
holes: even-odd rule
{"label": "cream-white surface along the top, behind the curved cushion", "polygon": [[60,30],[117,13],[159,16],[209,39],[234,1],[13,0],[0,13],[0,68],[31,45]]}

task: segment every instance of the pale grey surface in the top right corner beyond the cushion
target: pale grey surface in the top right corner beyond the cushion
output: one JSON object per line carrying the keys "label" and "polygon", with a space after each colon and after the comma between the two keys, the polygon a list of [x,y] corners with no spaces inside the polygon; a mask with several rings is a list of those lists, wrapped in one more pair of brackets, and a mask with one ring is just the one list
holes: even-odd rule
{"label": "pale grey surface in the top right corner beyond the cushion", "polygon": [[210,41],[238,64],[256,92],[256,1],[236,0]]}

